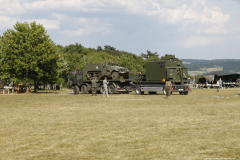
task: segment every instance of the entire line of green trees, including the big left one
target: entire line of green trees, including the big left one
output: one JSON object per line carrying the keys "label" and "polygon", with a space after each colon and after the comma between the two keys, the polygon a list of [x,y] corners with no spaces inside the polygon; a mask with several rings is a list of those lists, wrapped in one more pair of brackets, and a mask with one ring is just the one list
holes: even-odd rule
{"label": "entire line of green trees, including the big left one", "polygon": [[0,37],[0,79],[29,79],[36,83],[63,82],[66,74],[84,68],[85,64],[117,61],[133,73],[144,70],[146,61],[178,60],[174,55],[161,58],[157,52],[141,53],[140,56],[120,51],[106,45],[104,48],[85,48],[81,44],[55,45],[47,31],[36,22],[16,23]]}

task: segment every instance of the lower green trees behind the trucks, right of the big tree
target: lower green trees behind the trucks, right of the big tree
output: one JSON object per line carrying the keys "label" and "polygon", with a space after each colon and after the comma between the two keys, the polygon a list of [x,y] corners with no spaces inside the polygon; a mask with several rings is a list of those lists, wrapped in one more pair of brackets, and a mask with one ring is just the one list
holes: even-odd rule
{"label": "lower green trees behind the trucks, right of the big tree", "polygon": [[161,58],[157,52],[141,53],[140,56],[135,54],[117,50],[109,45],[98,46],[95,48],[84,48],[81,44],[71,44],[68,46],[60,46],[60,55],[68,63],[68,72],[76,70],[76,68],[85,68],[85,64],[105,63],[108,61],[117,61],[119,66],[126,67],[133,73],[144,70],[146,61],[157,60],[179,60],[174,55],[166,54]]}

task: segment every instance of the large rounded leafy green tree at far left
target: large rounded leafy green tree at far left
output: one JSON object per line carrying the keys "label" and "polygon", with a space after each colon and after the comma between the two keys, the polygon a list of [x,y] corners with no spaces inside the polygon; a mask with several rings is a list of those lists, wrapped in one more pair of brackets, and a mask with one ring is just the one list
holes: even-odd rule
{"label": "large rounded leafy green tree at far left", "polygon": [[4,71],[18,79],[55,83],[60,66],[57,47],[45,28],[36,22],[16,23],[2,37],[2,62]]}

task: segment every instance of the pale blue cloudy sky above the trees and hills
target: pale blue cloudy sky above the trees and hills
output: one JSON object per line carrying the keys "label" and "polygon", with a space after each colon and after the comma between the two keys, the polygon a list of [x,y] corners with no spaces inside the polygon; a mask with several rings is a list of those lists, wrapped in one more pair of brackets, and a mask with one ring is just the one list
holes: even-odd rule
{"label": "pale blue cloudy sky above the trees and hills", "polygon": [[33,21],[62,46],[240,59],[240,0],[0,0],[0,35]]}

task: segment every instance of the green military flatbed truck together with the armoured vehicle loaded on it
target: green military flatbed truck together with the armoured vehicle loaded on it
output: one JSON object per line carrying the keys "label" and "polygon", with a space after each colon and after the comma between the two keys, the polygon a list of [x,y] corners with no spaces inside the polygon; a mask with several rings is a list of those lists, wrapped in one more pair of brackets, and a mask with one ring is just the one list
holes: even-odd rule
{"label": "green military flatbed truck together with the armoured vehicle loaded on it", "polygon": [[97,77],[97,91],[103,93],[103,80],[108,77],[108,93],[129,93],[133,91],[133,85],[129,77],[129,70],[118,67],[116,64],[86,65],[86,69],[73,71],[67,75],[68,88],[73,88],[74,94],[91,93],[91,79]]}

